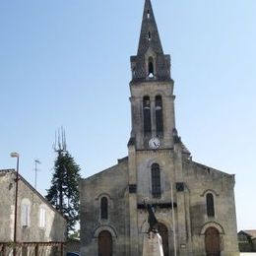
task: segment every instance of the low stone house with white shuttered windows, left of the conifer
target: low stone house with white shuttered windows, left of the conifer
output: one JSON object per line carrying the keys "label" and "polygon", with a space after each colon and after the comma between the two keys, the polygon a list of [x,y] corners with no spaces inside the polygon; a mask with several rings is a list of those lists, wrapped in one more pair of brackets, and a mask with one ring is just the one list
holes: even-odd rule
{"label": "low stone house with white shuttered windows, left of the conifer", "polygon": [[[0,170],[0,252],[10,250],[8,244],[14,241],[16,174],[14,169]],[[60,250],[66,241],[66,220],[21,175],[18,183],[19,250],[23,255],[36,255],[29,254],[36,246],[37,255],[50,255],[53,247]]]}

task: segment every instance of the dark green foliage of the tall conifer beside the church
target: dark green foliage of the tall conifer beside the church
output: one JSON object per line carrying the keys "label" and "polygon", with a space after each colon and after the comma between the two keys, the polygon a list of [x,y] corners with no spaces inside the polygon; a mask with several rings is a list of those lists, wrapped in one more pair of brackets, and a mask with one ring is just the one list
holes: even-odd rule
{"label": "dark green foliage of the tall conifer beside the church", "polygon": [[46,199],[66,218],[68,233],[79,220],[80,167],[68,152],[59,151]]}

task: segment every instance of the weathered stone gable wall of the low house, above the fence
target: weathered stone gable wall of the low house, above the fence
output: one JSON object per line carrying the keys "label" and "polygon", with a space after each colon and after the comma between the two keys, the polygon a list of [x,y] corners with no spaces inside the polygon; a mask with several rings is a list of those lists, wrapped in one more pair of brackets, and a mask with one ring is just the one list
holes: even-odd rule
{"label": "weathered stone gable wall of the low house, above the fence", "polygon": [[[0,171],[0,241],[12,241],[14,233],[15,178],[13,170]],[[19,180],[17,209],[17,241],[63,242],[66,239],[66,220],[21,177]],[[22,220],[23,204],[29,205],[28,224]],[[40,208],[45,211],[45,224],[40,226]],[[24,217],[25,218],[25,217]]]}

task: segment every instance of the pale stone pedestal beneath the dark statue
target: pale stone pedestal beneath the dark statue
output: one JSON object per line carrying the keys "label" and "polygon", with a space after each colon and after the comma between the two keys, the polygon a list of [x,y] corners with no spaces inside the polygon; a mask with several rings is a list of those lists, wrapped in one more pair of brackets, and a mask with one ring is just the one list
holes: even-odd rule
{"label": "pale stone pedestal beneath the dark statue", "polygon": [[163,256],[161,237],[159,233],[150,232],[143,239],[143,256]]}

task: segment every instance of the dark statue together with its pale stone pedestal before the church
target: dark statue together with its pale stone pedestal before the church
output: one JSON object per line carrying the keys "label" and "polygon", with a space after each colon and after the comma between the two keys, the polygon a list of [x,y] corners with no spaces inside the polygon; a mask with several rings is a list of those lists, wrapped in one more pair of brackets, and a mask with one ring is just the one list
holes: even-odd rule
{"label": "dark statue together with its pale stone pedestal before the church", "polygon": [[143,240],[143,256],[163,256],[161,237],[158,231],[158,220],[155,216],[153,206],[147,204],[148,223],[150,224],[148,234]]}

